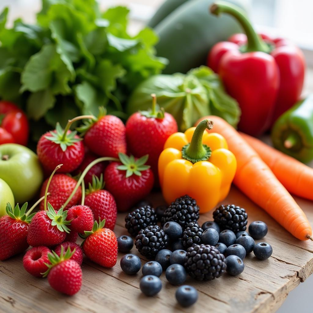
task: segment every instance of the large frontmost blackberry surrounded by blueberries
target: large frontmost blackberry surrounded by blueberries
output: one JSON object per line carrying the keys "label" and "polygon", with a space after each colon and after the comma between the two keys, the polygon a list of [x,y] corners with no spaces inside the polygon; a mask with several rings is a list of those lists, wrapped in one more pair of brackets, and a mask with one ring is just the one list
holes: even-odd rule
{"label": "large frontmost blackberry surrounded by blueberries", "polygon": [[187,273],[196,280],[212,280],[226,270],[224,255],[208,244],[196,244],[188,248],[184,266]]}

